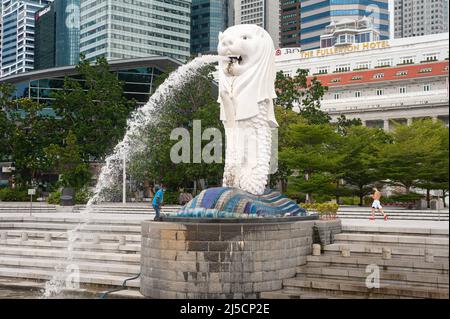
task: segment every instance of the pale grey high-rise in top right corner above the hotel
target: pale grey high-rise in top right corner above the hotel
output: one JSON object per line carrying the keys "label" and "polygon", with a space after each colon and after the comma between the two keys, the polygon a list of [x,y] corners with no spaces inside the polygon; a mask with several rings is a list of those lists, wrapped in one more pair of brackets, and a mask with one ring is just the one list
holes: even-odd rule
{"label": "pale grey high-rise in top right corner above the hotel", "polygon": [[448,0],[395,0],[396,38],[448,32]]}

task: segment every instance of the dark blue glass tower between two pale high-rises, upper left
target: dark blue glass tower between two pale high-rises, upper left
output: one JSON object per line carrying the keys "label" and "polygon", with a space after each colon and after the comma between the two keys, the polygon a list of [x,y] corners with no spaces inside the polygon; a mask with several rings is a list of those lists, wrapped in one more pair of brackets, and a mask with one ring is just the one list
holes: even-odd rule
{"label": "dark blue glass tower between two pale high-rises, upper left", "polygon": [[35,15],[35,69],[75,65],[80,58],[80,0],[55,0]]}

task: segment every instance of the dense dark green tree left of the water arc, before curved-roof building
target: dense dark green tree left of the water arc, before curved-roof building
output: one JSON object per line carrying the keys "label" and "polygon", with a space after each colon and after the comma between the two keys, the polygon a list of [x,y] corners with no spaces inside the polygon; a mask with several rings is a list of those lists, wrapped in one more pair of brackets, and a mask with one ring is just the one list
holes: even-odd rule
{"label": "dense dark green tree left of the water arc, before curved-roof building", "polygon": [[82,158],[102,160],[123,137],[136,102],[124,97],[123,84],[105,58],[92,65],[82,57],[76,71],[77,78],[66,77],[63,89],[53,93],[53,108],[65,135],[75,134]]}

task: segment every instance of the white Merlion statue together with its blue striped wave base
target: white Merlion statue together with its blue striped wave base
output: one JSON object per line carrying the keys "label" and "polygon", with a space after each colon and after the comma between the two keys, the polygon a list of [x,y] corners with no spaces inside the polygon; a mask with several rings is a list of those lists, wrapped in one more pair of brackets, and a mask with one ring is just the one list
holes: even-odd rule
{"label": "white Merlion statue together with its blue striped wave base", "polygon": [[222,187],[204,189],[177,213],[181,218],[307,216],[295,201],[266,188],[272,130],[278,127],[275,48],[256,25],[237,25],[219,35],[220,119],[226,135]]}

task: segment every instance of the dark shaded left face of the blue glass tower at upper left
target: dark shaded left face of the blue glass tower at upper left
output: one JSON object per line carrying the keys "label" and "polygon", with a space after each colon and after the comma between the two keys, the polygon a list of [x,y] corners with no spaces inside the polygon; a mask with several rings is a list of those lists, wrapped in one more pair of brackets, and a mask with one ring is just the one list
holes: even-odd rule
{"label": "dark shaded left face of the blue glass tower at upper left", "polygon": [[36,12],[34,16],[34,69],[55,66],[55,8],[53,3]]}

